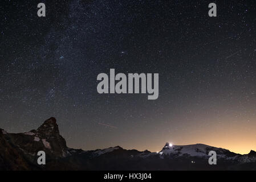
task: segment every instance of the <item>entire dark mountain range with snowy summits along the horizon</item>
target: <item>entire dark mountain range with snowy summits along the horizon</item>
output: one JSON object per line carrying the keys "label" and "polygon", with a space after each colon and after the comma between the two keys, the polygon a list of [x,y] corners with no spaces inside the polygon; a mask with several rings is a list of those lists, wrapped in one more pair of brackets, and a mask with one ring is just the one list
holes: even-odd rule
{"label": "entire dark mountain range with snowy summits along the horizon", "polygon": [[[208,163],[216,151],[217,164]],[[38,151],[46,165],[38,165]],[[0,129],[0,170],[256,170],[256,152],[241,155],[224,148],[166,143],[160,152],[125,150],[119,146],[84,151],[68,148],[55,118],[37,130],[7,133]]]}

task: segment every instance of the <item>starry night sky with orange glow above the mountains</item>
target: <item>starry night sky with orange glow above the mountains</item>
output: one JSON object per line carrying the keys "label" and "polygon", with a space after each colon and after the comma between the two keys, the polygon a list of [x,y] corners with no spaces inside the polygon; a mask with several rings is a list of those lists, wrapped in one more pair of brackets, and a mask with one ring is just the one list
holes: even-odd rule
{"label": "starry night sky with orange glow above the mountains", "polygon": [[[37,4],[46,17],[37,16]],[[217,17],[208,5],[217,4]],[[253,1],[4,1],[0,127],[57,119],[67,145],[256,150]],[[99,94],[99,73],[159,73],[159,98]]]}

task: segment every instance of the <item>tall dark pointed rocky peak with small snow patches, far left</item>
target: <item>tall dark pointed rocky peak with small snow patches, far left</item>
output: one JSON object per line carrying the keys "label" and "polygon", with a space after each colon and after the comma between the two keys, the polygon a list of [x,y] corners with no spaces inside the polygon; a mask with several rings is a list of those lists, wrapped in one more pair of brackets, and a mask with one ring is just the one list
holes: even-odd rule
{"label": "tall dark pointed rocky peak with small snow patches, far left", "polygon": [[46,152],[47,161],[63,158],[68,154],[66,140],[59,134],[56,119],[53,117],[47,119],[37,130],[18,134],[1,130],[0,147],[3,151],[0,152],[0,157],[2,156],[0,161],[3,159],[14,161],[17,163],[16,168],[13,162],[10,162],[13,169],[28,169],[24,161],[36,165],[38,151]]}

